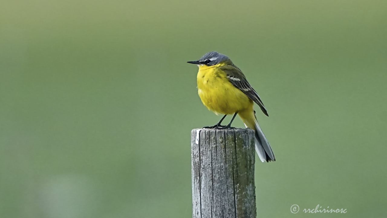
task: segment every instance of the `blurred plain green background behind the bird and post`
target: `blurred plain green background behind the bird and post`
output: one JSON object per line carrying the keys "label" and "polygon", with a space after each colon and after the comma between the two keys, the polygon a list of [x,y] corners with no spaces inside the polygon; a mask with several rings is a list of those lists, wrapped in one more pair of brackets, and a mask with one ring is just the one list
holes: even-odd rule
{"label": "blurred plain green background behind the bird and post", "polygon": [[186,61],[211,50],[270,115],[257,111],[277,158],[256,163],[258,217],[386,217],[386,11],[383,0],[3,2],[1,217],[191,217],[190,130],[220,116]]}

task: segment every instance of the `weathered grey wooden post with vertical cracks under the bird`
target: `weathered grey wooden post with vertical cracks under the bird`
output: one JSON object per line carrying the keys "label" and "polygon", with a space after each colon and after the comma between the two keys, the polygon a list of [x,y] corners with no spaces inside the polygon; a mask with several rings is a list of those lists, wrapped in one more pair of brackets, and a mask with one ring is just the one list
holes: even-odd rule
{"label": "weathered grey wooden post with vertical cracks under the bird", "polygon": [[250,129],[191,131],[193,218],[256,218]]}

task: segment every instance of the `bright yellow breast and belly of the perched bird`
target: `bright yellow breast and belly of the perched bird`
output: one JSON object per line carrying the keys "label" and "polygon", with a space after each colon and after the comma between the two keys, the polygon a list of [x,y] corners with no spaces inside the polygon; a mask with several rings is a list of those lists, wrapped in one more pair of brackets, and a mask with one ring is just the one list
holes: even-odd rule
{"label": "bright yellow breast and belly of the perched bird", "polygon": [[203,104],[216,114],[234,114],[253,106],[253,101],[235,88],[216,66],[199,67],[197,87]]}

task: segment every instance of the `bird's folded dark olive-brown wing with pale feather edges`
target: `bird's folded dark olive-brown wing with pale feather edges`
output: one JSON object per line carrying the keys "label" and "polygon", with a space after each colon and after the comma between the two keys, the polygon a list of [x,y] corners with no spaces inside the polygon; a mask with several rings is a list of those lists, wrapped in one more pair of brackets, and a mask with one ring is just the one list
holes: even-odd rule
{"label": "bird's folded dark olive-brown wing with pale feather edges", "polygon": [[243,75],[242,71],[238,67],[224,65],[221,66],[221,70],[227,74],[228,81],[231,84],[233,84],[236,88],[245,93],[251,100],[257,103],[262,112],[264,112],[266,116],[269,116],[264,104],[262,103],[262,100],[259,98],[259,95],[257,92],[255,92],[253,87],[251,87],[251,85],[246,80],[245,75]]}

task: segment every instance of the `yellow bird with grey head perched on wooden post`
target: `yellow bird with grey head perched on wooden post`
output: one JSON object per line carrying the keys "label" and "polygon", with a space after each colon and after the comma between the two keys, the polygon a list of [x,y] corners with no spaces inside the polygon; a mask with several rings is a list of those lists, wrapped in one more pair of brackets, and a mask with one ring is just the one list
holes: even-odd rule
{"label": "yellow bird with grey head perched on wooden post", "polygon": [[[238,114],[245,126],[255,131],[255,151],[260,161],[276,161],[255,116],[254,102],[266,116],[269,114],[241,69],[233,64],[229,57],[215,51],[208,52],[197,61],[187,61],[187,63],[196,64],[199,67],[197,89],[204,106],[215,114],[224,114],[216,125],[203,128],[233,128],[231,123]],[[226,126],[221,125],[223,119],[231,114],[234,115],[230,123]]]}

